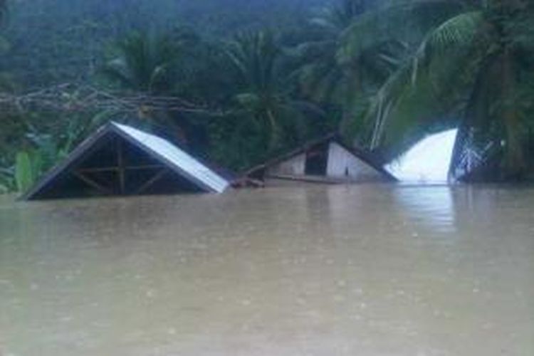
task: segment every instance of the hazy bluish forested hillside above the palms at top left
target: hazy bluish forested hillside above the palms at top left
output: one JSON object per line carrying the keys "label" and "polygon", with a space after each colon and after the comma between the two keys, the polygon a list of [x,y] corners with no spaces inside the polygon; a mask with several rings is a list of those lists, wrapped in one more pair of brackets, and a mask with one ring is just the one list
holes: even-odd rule
{"label": "hazy bluish forested hillside above the palms at top left", "polygon": [[[211,38],[288,28],[323,0],[30,0],[11,1],[6,65],[28,85],[85,80],[110,41],[131,31],[190,27]],[[83,69],[83,70],[80,70]]]}

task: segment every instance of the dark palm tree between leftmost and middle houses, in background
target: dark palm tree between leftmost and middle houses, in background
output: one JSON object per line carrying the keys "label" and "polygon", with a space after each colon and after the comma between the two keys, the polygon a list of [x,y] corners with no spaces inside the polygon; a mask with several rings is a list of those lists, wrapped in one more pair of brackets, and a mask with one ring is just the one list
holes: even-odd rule
{"label": "dark palm tree between leftmost and middle houses, in background", "polygon": [[241,33],[226,48],[239,81],[237,113],[244,125],[264,135],[267,150],[276,150],[291,135],[302,137],[305,113],[317,115],[313,105],[295,100],[284,66],[284,51],[270,31]]}

